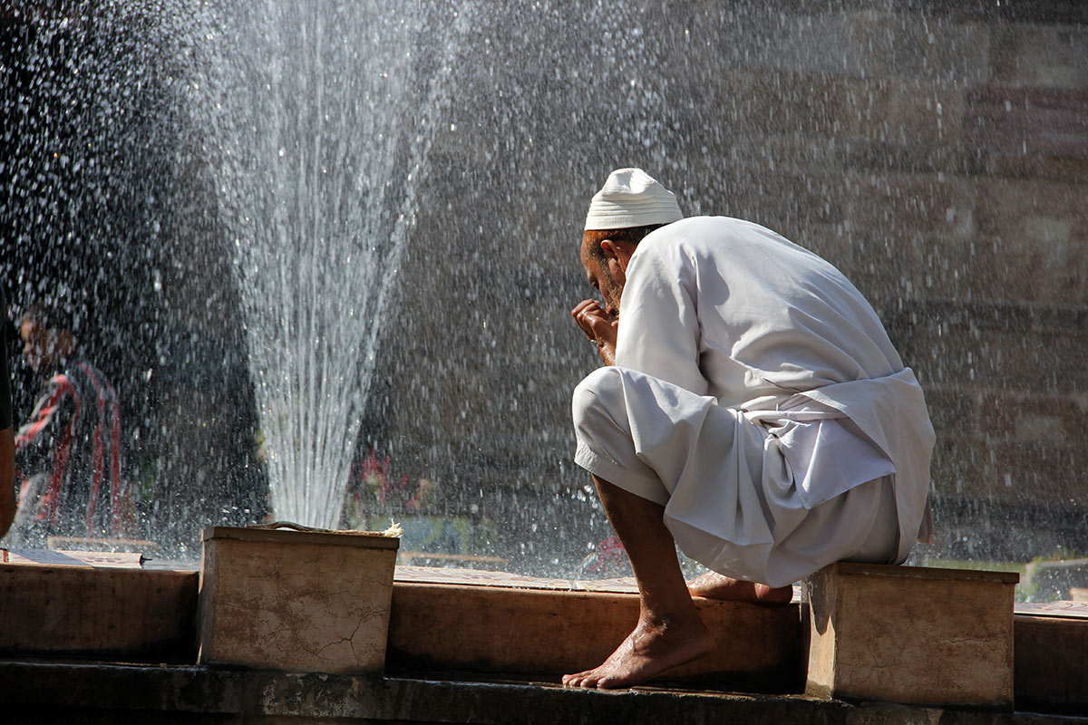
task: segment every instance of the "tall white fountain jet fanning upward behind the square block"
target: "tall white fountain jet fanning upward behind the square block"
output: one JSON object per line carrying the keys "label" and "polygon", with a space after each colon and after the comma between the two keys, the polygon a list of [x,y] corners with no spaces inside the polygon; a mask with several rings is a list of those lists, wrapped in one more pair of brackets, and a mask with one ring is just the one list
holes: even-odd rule
{"label": "tall white fountain jet fanning upward behind the square block", "polygon": [[463,11],[383,17],[383,7],[260,3],[208,33],[217,57],[203,110],[217,129],[271,505],[313,526],[339,522],[468,22]]}

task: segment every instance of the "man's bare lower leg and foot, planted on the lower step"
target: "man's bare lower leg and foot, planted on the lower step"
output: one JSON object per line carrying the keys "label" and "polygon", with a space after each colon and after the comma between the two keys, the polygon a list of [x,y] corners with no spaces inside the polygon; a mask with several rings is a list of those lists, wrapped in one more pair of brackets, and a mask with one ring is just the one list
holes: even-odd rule
{"label": "man's bare lower leg and foot, planted on the lower step", "polygon": [[639,624],[601,665],[565,675],[567,687],[630,687],[714,648],[688,592],[664,507],[593,476],[639,584]]}

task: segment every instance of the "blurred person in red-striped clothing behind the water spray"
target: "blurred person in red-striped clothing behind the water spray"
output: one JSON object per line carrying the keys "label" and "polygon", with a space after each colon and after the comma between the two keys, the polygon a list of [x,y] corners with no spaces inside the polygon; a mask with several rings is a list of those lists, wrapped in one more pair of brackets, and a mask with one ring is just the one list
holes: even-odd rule
{"label": "blurred person in red-striped clothing behind the water spray", "polygon": [[49,536],[116,538],[131,508],[121,480],[118,393],[79,354],[63,311],[36,304],[20,318],[18,333],[44,387],[15,436],[16,536],[24,546],[44,546]]}

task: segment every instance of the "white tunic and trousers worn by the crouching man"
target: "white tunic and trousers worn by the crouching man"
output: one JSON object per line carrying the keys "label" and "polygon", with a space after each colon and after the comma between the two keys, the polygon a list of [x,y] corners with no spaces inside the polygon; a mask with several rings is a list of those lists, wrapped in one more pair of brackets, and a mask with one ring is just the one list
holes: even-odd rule
{"label": "white tunic and trousers worn by the crouching man", "polygon": [[725,574],[901,562],[923,524],[934,432],[913,372],[838,270],[756,224],[693,217],[640,242],[616,366],[573,409],[576,462],[665,505],[680,548]]}

